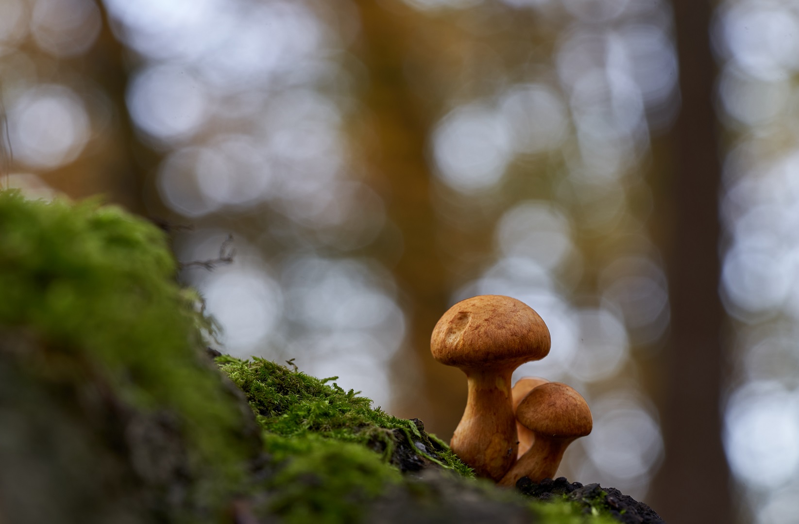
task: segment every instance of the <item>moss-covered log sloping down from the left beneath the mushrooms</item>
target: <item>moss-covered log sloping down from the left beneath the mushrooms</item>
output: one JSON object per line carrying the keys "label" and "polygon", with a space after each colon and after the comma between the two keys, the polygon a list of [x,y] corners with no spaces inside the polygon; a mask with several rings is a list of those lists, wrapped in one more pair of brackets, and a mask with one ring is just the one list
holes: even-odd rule
{"label": "moss-covered log sloping down from the left beneath the mushrooms", "polygon": [[175,271],[117,208],[0,192],[0,522],[610,522],[475,480],[335,379],[215,363]]}

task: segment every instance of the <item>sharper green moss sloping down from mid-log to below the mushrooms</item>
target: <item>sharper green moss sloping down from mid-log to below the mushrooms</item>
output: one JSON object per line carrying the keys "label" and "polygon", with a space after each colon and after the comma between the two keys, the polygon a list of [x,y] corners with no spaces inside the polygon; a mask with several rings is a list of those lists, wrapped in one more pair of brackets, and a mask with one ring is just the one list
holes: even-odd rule
{"label": "sharper green moss sloping down from mid-log to below the mushrooms", "polygon": [[[272,498],[268,513],[287,522],[358,522],[368,502],[389,485],[403,484],[418,491],[424,484],[408,484],[392,467],[396,430],[418,440],[411,420],[398,419],[371,408],[371,400],[344,391],[334,378],[318,379],[269,360],[240,360],[222,356],[217,364],[247,396],[264,431],[264,447],[277,475],[268,481]],[[528,506],[538,522],[546,524],[606,524],[614,522],[598,510],[586,513],[581,503],[563,498],[529,502],[493,483],[474,480],[446,443],[429,435],[439,450],[427,455],[472,483],[486,500]],[[416,448],[413,448],[416,450]]]}

